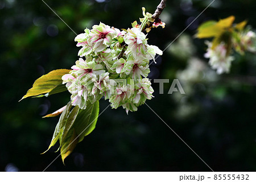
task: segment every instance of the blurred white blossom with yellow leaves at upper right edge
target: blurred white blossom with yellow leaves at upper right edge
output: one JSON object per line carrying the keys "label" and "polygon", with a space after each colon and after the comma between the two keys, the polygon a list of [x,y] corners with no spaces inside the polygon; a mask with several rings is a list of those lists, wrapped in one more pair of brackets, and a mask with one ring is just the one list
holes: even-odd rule
{"label": "blurred white blossom with yellow leaves at upper right edge", "polygon": [[209,58],[209,64],[218,74],[229,73],[235,51],[243,55],[245,52],[256,53],[256,34],[247,21],[234,24],[235,16],[229,16],[217,21],[209,20],[197,28],[199,39],[213,38],[206,41],[208,46],[204,57]]}

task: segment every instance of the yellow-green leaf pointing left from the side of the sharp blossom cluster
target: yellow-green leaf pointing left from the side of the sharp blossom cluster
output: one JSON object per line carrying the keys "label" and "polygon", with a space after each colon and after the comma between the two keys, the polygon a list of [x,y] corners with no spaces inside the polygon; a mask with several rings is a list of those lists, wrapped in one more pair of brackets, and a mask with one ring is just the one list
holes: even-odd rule
{"label": "yellow-green leaf pointing left from the side of the sharp blossom cluster", "polygon": [[23,96],[21,100],[27,97],[38,96],[44,93],[49,93],[48,95],[50,95],[65,91],[66,89],[64,89],[64,86],[60,86],[62,84],[61,77],[65,74],[68,74],[69,71],[71,70],[56,69],[49,72],[47,75],[43,75],[42,77],[38,78],[34,82],[32,88],[27,91],[26,95]]}

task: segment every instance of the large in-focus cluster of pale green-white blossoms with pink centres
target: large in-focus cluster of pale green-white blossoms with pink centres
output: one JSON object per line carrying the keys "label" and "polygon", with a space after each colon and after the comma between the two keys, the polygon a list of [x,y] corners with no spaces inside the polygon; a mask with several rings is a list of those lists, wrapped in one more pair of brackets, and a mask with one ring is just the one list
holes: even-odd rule
{"label": "large in-focus cluster of pale green-white blossoms with pink centres", "polygon": [[128,113],[153,97],[154,90],[146,78],[150,73],[148,64],[162,51],[147,44],[138,25],[121,31],[100,23],[92,30],[86,28],[75,41],[81,47],[80,58],[62,77],[72,105],[85,109],[87,101],[93,104],[104,97],[112,108],[122,106]]}

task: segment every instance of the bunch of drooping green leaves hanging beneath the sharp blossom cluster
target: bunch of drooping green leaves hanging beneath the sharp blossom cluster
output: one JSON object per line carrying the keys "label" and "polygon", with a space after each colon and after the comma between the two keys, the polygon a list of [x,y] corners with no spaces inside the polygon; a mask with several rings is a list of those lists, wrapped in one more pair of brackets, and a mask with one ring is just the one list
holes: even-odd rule
{"label": "bunch of drooping green leaves hanging beneath the sharp blossom cluster", "polygon": [[[64,159],[74,150],[76,144],[81,142],[86,135],[90,134],[96,126],[99,102],[96,101],[94,104],[91,104],[88,101],[86,105],[86,109],[79,109],[79,106],[75,106],[71,110],[71,102],[68,102],[67,106],[59,109],[63,110],[63,112],[56,125],[48,150],[56,144],[57,140],[59,140],[60,154],[63,163]],[[45,152],[43,152],[43,154]]]}

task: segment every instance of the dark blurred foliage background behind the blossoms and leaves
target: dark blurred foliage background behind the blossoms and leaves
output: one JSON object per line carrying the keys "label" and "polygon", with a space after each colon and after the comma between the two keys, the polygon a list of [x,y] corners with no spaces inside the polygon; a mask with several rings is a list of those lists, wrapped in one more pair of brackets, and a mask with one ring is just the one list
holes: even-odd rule
{"label": "dark blurred foliage background behind the blossoms and leaves", "polygon": [[[141,7],[154,13],[160,0],[82,0],[46,3],[77,33],[103,22],[131,27]],[[212,2],[167,1],[160,16],[166,28],[153,29],[148,43],[165,49]],[[170,84],[154,84],[147,104],[214,171],[256,170],[256,56],[235,55],[230,74],[218,76],[203,55],[204,40],[194,39],[205,20],[236,16],[256,27],[256,1],[216,0],[163,56],[151,65],[150,78],[179,78],[185,95],[167,94]],[[71,68],[79,48],[72,32],[43,1],[0,1],[0,170],[43,171],[59,155],[58,146],[44,155],[58,117],[42,119],[67,104],[69,93],[18,102],[36,78],[53,69]],[[100,101],[100,110],[109,105]],[[146,105],[135,113],[110,107],[96,129],[65,160],[46,171],[210,171]]]}

